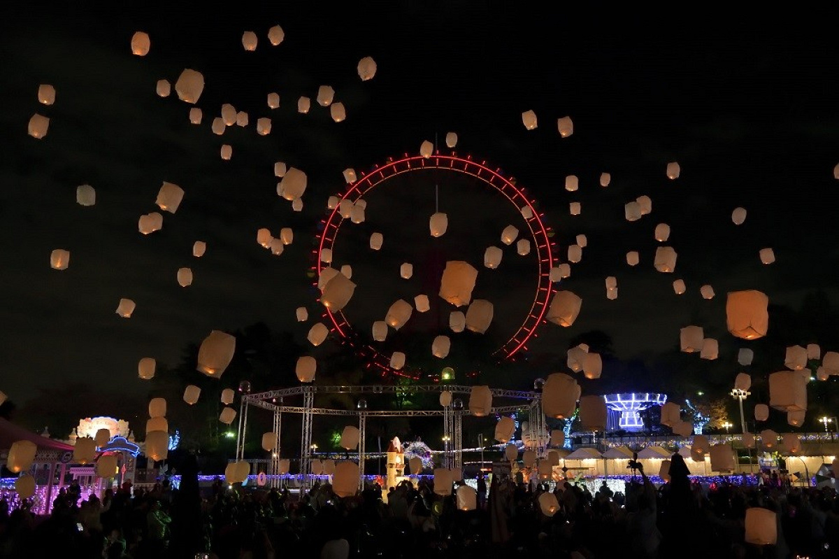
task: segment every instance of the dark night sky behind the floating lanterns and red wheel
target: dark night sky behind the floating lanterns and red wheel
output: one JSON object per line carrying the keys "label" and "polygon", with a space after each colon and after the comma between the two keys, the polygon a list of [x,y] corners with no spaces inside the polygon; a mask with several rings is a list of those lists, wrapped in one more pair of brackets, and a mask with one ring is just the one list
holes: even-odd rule
{"label": "dark night sky behind the floating lanterns and red wheel", "polygon": [[[773,315],[770,331],[784,335],[754,374],[783,368],[787,345],[839,350],[837,313],[819,306],[815,328],[803,307],[818,292],[827,302],[839,295],[834,40],[793,42],[749,29],[614,33],[489,3],[349,4],[356,3],[261,11],[232,4],[224,13],[22,8],[8,18],[0,39],[0,389],[11,399],[23,404],[39,387],[79,379],[143,398],[140,358],[175,365],[187,344],[214,329],[264,322],[306,344],[320,308],[307,276],[310,253],[328,196],[345,187],[341,171],[362,175],[388,157],[418,154],[425,140],[449,153],[443,138],[450,131],[460,138],[457,154],[514,176],[539,202],[560,261],[576,235],[587,237],[562,287],[582,297],[581,315],[569,328],[539,327],[523,379],[565,371],[569,342],[591,331],[611,338],[616,363],[653,366],[674,352],[680,327],[696,324],[719,340],[719,359],[679,355],[672,374],[690,385],[732,382],[737,348],[748,345],[726,332],[725,294],[732,290],[763,290],[783,310],[777,316],[806,325],[796,331]],[[275,24],[285,32],[276,47],[266,37]],[[144,57],[129,48],[138,30],[151,38]],[[242,48],[248,30],[258,34],[254,52]],[[371,81],[357,76],[364,56],[378,64]],[[174,85],[185,68],[206,80],[199,126],[189,123],[191,106],[174,87],[169,97],[155,94],[158,80]],[[55,86],[52,106],[38,102],[42,83]],[[334,87],[347,107],[345,122],[332,122],[315,102],[321,85]],[[276,110],[265,101],[271,91],[281,99]],[[300,96],[312,100],[308,114],[296,110]],[[216,136],[211,122],[227,102],[248,112],[249,123]],[[527,110],[539,118],[532,131],[521,120]],[[27,135],[35,112],[51,119],[42,139]],[[565,116],[574,133],[560,138],[556,119]],[[260,117],[272,119],[264,137],[255,129]],[[221,144],[232,145],[232,160],[221,160]],[[302,212],[276,195],[275,161],[307,173]],[[665,175],[670,161],[680,163],[677,180]],[[602,172],[612,175],[607,188],[598,184]],[[566,175],[579,177],[579,191],[565,191]],[[184,200],[174,215],[161,212],[162,230],[144,236],[138,218],[160,212],[154,201],[163,181],[180,185]],[[82,184],[96,189],[95,206],[76,204]],[[450,222],[440,239],[427,229],[435,184]],[[627,222],[624,204],[642,195],[652,199],[652,213]],[[581,202],[580,216],[569,214],[571,201]],[[412,176],[375,191],[367,221],[341,226],[336,264],[352,264],[358,284],[347,316],[368,331],[397,297],[425,292],[437,299],[428,270],[440,259],[462,258],[479,269],[477,296],[496,305],[489,345],[503,343],[523,320],[535,282],[534,253],[519,257],[514,246],[498,270],[482,266],[483,248],[502,246],[503,227],[517,219],[524,227],[505,204],[445,175]],[[731,220],[737,206],[748,210],[739,227]],[[663,244],[679,254],[673,274],[653,268],[659,223],[670,225]],[[294,243],[274,256],[256,243],[260,227],[275,236],[292,227]],[[380,254],[366,246],[372,231],[384,234]],[[201,259],[191,255],[196,240],[207,243]],[[758,251],[768,247],[777,260],[763,265]],[[50,269],[55,248],[70,250],[68,269]],[[634,268],[624,259],[629,250],[640,253]],[[412,280],[399,278],[405,261],[414,264]],[[177,284],[180,267],[192,269],[190,287]],[[618,279],[618,300],[606,298],[609,275]],[[685,280],[685,295],[673,292],[676,279]],[[704,284],[714,299],[701,298]],[[122,297],[137,304],[128,320],[115,314]],[[298,306],[309,309],[310,321],[295,321]],[[430,341],[445,333],[432,331],[449,310],[434,320],[423,316],[406,332]],[[621,383],[631,386],[631,378]]]}

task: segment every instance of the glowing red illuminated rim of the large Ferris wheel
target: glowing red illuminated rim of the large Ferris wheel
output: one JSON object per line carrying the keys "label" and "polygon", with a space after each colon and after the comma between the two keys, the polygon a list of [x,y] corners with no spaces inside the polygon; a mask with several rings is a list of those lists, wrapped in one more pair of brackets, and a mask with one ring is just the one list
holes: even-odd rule
{"label": "glowing red illuminated rim of the large Ferris wheel", "polygon": [[[543,215],[539,214],[536,210],[535,201],[524,193],[524,189],[516,186],[510,178],[501,175],[499,169],[490,169],[487,167],[486,161],[477,163],[477,161],[472,160],[472,156],[461,158],[456,154],[434,154],[425,158],[421,155],[409,156],[406,154],[401,159],[388,158],[387,163],[384,165],[374,166],[373,170],[362,175],[355,182],[348,184],[346,191],[341,195],[341,200],[349,200],[355,203],[357,200],[362,199],[367,192],[373,190],[373,188],[381,185],[393,176],[420,170],[445,170],[471,175],[481,180],[485,185],[492,186],[492,188],[500,192],[511,204],[516,206],[517,211],[521,212],[524,207],[529,207],[530,209],[531,217],[524,219],[524,222],[527,223],[530,238],[533,241],[533,246],[536,248],[539,274],[533,304],[530,306],[530,311],[518,330],[494,353],[500,358],[513,358],[520,351],[527,349],[527,342],[531,337],[536,336],[537,327],[545,322],[545,314],[550,306],[550,295],[553,293],[553,287],[550,281],[550,269],[554,265],[554,256],[551,250],[552,243],[550,241],[550,227],[545,226],[545,223],[542,221]],[[522,217],[524,218],[524,215]],[[341,214],[338,212],[338,206],[336,205],[326,219],[321,221],[323,230],[318,234],[317,248],[314,251],[315,264],[312,266],[312,269],[315,271],[315,285],[317,284],[317,278],[320,278],[320,271],[324,267],[324,263],[320,260],[320,255],[325,248],[330,250],[333,248],[343,220],[344,218],[341,217]],[[328,316],[332,323],[331,330],[336,332],[341,339],[347,340],[352,332],[352,325],[347,320],[347,317],[344,316],[344,313],[342,311],[332,312],[326,308],[324,311],[326,312],[325,316]],[[390,358],[380,353],[370,344],[365,344],[365,347],[360,347],[359,349],[362,350],[362,353],[367,354],[370,359],[370,364],[381,369],[383,374],[414,376],[408,371],[391,368]]]}

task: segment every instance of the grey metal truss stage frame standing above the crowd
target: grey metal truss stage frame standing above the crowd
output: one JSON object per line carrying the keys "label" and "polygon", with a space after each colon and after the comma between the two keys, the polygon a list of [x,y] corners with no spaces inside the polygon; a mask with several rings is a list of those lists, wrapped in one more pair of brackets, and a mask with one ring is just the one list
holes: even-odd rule
{"label": "grey metal truss stage frame standing above the crowd", "polygon": [[[331,408],[315,408],[315,394],[396,394],[399,392],[412,393],[442,393],[450,392],[452,399],[449,405],[440,406],[436,410],[368,410],[364,401],[356,410],[336,410]],[[496,399],[524,400],[519,405],[493,405],[490,414],[506,414],[514,411],[528,410],[529,435],[531,441],[544,441],[545,414],[542,412],[542,394],[538,391],[490,389],[493,402]],[[248,431],[248,409],[250,406],[272,411],[274,413],[274,452],[268,464],[268,479],[272,487],[279,488],[280,435],[283,425],[283,414],[293,413],[303,415],[302,436],[300,439],[300,473],[303,487],[311,481],[311,462],[315,458],[311,447],[312,425],[315,415],[347,415],[356,416],[360,439],[358,443],[358,469],[362,486],[365,461],[365,438],[367,417],[442,417],[443,418],[443,464],[444,468],[463,467],[463,416],[473,415],[468,405],[455,396],[471,394],[472,386],[459,384],[428,384],[418,386],[399,386],[369,384],[363,386],[320,386],[316,384],[296,386],[288,389],[268,390],[254,394],[242,394],[239,407],[239,425],[236,441],[236,459],[244,459],[245,435]],[[285,405],[287,398],[302,398],[302,405]],[[546,447],[539,446],[539,457],[545,457]]]}

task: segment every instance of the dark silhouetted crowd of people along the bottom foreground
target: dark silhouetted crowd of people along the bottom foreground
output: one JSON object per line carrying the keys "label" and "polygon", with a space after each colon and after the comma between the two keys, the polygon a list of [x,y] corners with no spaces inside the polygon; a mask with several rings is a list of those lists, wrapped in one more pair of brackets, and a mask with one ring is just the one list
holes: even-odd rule
{"label": "dark silhouetted crowd of people along the bottom foreground", "polygon": [[[148,491],[125,484],[102,499],[70,488],[47,518],[0,503],[0,559],[839,557],[834,488],[691,483],[679,455],[670,475],[656,487],[642,470],[625,493],[495,475],[487,491],[479,480],[477,508],[468,511],[457,509],[456,485],[437,495],[409,481],[344,498],[329,483],[297,495],[218,480],[202,494],[197,478]],[[546,491],[560,504],[552,516],[539,508]],[[744,541],[753,506],[778,513],[775,545]]]}

